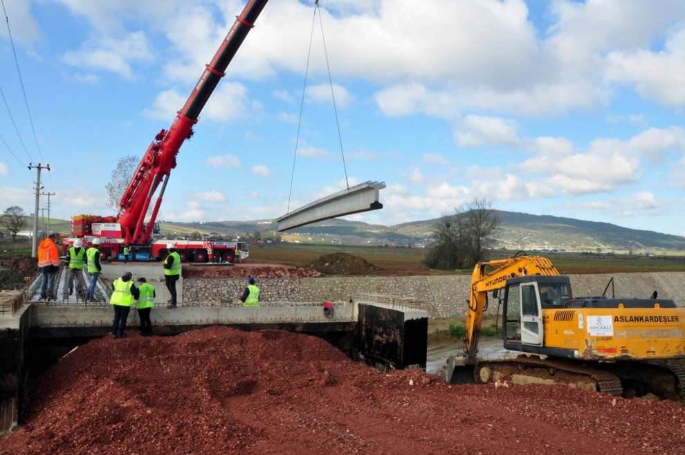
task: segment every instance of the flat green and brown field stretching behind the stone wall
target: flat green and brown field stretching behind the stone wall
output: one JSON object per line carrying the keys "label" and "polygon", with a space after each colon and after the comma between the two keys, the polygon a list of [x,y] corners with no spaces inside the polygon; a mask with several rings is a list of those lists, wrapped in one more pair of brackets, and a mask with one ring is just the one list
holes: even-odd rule
{"label": "flat green and brown field stretching behind the stone wall", "polygon": [[[363,257],[374,266],[393,274],[470,274],[467,270],[429,270],[423,265],[423,248],[383,248],[367,246],[305,245],[279,243],[250,245],[250,262],[283,263],[305,266],[321,254],[345,252]],[[513,252],[498,250],[491,259],[509,257]],[[685,272],[683,257],[639,257],[628,254],[540,254],[549,258],[564,274],[619,273],[619,272]]]}

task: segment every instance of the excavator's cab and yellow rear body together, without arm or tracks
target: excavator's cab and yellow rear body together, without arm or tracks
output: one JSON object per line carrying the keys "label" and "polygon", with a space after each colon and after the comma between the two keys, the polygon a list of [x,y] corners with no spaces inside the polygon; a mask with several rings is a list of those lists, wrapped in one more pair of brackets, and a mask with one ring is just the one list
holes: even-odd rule
{"label": "excavator's cab and yellow rear body together, without arm or tracks", "polygon": [[685,309],[668,299],[574,298],[569,277],[506,281],[504,348],[583,360],[685,357]]}

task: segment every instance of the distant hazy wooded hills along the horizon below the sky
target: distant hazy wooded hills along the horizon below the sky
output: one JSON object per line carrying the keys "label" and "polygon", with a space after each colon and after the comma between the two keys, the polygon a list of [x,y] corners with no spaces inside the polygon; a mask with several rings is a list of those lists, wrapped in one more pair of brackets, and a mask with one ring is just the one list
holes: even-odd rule
{"label": "distant hazy wooded hills along the horizon below the sky", "polygon": [[[623,228],[549,215],[497,211],[502,228],[496,236],[498,248],[531,250],[560,248],[569,251],[615,250],[642,252],[685,252],[685,237],[654,231]],[[346,245],[427,245],[439,219],[412,221],[394,226],[332,219],[296,228],[283,234],[287,241],[301,243],[345,243]],[[211,223],[162,222],[165,232],[220,234],[222,236],[273,236],[271,220],[216,221]]]}

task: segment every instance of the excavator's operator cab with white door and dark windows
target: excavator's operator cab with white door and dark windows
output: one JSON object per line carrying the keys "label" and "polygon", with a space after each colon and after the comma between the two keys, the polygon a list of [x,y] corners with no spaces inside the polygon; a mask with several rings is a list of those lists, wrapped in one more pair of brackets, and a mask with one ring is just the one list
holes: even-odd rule
{"label": "excavator's operator cab with white door and dark windows", "polygon": [[542,310],[564,308],[573,299],[569,278],[560,275],[509,279],[499,297],[504,347],[514,351],[519,351],[521,344],[542,346],[545,333]]}

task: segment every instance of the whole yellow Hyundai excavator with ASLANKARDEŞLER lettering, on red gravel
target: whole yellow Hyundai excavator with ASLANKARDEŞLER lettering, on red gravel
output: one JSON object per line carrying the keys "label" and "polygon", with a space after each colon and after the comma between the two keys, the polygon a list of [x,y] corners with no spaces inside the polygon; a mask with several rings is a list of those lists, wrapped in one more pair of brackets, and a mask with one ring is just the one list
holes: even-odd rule
{"label": "whole yellow Hyundai excavator with ASLANKARDE\u015eLER lettering, on red gravel", "polygon": [[[488,292],[502,308],[504,349],[522,354],[477,358]],[[673,300],[573,297],[549,259],[518,253],[475,266],[464,350],[448,359],[447,379],[682,399],[684,333],[685,308]]]}

